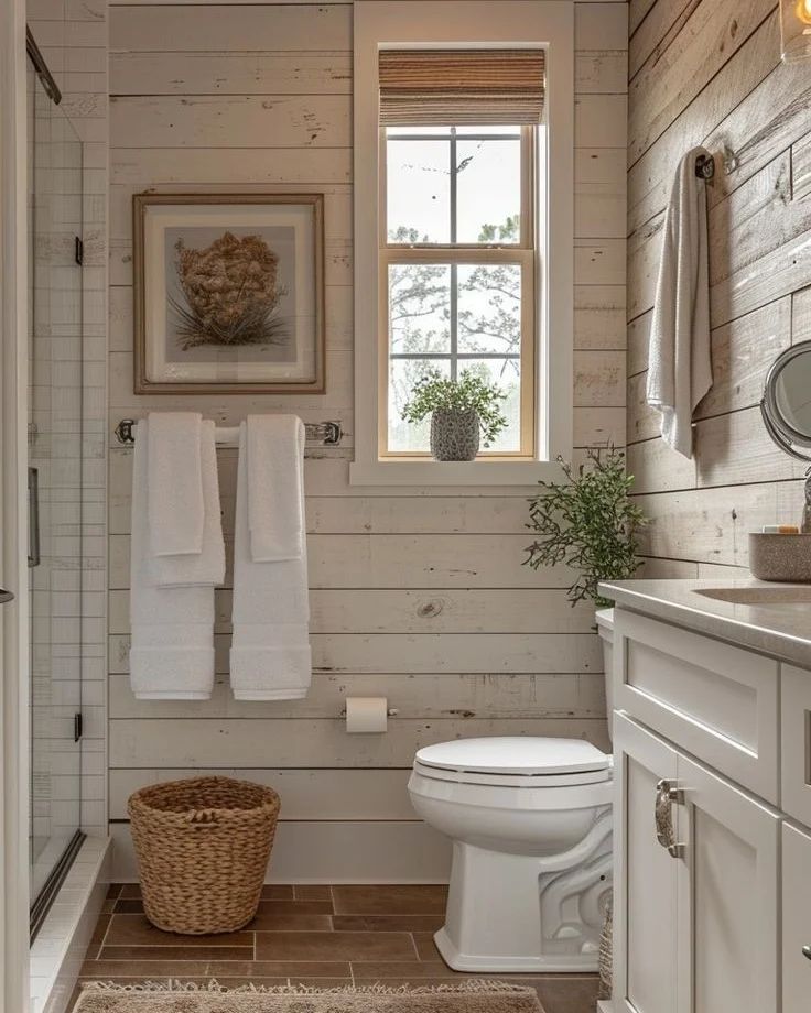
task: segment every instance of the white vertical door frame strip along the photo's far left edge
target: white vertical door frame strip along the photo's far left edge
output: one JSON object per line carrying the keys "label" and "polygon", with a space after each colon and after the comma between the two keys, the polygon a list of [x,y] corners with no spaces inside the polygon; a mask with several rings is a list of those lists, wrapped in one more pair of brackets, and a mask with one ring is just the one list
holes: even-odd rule
{"label": "white vertical door frame strip along the photo's far left edge", "polygon": [[26,54],[23,0],[0,3],[0,1011],[29,1006]]}

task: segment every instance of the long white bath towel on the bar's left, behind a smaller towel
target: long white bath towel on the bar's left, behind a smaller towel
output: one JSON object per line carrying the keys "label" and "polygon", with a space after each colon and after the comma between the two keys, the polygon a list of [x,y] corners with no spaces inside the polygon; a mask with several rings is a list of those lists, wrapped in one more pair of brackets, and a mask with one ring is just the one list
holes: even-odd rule
{"label": "long white bath towel on the bar's left, behind a smaller towel", "polygon": [[[210,574],[216,580],[195,587],[158,586],[155,560],[149,555],[148,437],[149,421],[139,423],[132,476],[130,683],[139,699],[205,700],[214,686],[214,585],[223,581],[225,567]],[[202,473],[207,486],[214,480],[204,502],[216,501],[221,541],[216,461],[213,472],[206,467],[213,454],[214,424],[203,423]],[[205,544],[203,549],[205,555]]]}

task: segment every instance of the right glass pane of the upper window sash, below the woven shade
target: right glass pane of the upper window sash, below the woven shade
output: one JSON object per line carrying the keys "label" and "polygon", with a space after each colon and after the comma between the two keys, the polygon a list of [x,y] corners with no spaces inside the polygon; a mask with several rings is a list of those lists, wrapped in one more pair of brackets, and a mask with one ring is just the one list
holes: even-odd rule
{"label": "right glass pane of the upper window sash, below the woven shade", "polygon": [[521,142],[456,142],[456,241],[520,242]]}

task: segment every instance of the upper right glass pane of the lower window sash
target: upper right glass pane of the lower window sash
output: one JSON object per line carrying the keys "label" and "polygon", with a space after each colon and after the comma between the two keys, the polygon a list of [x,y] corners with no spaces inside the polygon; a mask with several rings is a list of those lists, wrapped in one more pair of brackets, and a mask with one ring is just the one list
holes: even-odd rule
{"label": "upper right glass pane of the lower window sash", "polygon": [[519,355],[520,265],[459,264],[456,272],[459,352]]}

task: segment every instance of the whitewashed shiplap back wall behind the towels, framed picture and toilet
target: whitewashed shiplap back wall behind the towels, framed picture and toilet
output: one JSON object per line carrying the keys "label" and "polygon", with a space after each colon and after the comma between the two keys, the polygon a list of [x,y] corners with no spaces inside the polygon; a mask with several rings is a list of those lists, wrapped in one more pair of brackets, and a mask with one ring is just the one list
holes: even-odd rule
{"label": "whitewashed shiplap back wall behind the towels, framed picture and toilet", "polygon": [[[528,0],[530,2],[530,0]],[[193,13],[192,13],[193,11]],[[575,429],[578,447],[625,442],[625,3],[577,4]],[[339,449],[307,453],[315,672],[306,700],[245,704],[227,684],[228,589],[217,596],[218,678],[201,704],[129,688],[131,453],[109,453],[110,817],[118,875],[134,869],[128,794],[193,771],[277,786],[275,880],[429,880],[446,842],[406,784],[423,744],[477,734],[582,736],[607,745],[602,658],[566,574],[521,566],[523,490],[363,490],[353,456],[352,6],[120,7],[111,11],[109,431],[150,409],[339,418]],[[325,194],[327,393],[132,394],[133,193]],[[220,453],[233,531],[235,451]],[[476,493],[483,494],[476,494]],[[522,494],[518,494],[518,493]],[[385,694],[383,736],[347,736],[347,695]]]}

